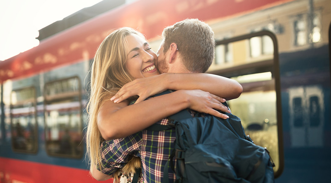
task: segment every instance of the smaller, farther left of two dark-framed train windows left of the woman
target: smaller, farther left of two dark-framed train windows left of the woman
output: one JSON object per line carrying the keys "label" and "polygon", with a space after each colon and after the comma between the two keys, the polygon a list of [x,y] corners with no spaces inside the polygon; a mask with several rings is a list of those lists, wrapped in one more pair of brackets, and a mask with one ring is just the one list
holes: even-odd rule
{"label": "smaller, farther left of two dark-framed train windows left of the woman", "polygon": [[11,92],[10,116],[14,151],[37,152],[36,90],[34,87]]}

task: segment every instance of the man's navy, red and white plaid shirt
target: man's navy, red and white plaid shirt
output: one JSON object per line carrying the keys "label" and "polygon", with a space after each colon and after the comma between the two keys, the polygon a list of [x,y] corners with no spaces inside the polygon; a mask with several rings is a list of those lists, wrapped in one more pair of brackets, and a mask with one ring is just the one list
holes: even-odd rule
{"label": "man's navy, red and white plaid shirt", "polygon": [[[194,116],[195,111],[189,110]],[[201,114],[199,116],[205,116]],[[156,124],[167,125],[162,119]],[[174,149],[175,128],[163,131],[142,130],[125,138],[105,141],[101,144],[102,173],[111,175],[127,163],[129,155],[140,157],[144,183],[162,183],[165,164]],[[169,182],[175,181],[175,174],[168,167]]]}

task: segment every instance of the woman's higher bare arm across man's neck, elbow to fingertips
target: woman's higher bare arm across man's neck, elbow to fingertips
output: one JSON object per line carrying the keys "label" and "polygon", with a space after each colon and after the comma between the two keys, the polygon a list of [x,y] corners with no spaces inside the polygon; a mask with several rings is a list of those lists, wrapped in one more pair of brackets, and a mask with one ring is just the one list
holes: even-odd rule
{"label": "woman's higher bare arm across man's neck, elbow to fingertips", "polygon": [[136,103],[154,94],[170,90],[194,90],[210,92],[226,100],[238,98],[243,91],[235,80],[207,73],[164,73],[153,77],[135,79],[124,85],[111,99],[121,102],[139,95]]}

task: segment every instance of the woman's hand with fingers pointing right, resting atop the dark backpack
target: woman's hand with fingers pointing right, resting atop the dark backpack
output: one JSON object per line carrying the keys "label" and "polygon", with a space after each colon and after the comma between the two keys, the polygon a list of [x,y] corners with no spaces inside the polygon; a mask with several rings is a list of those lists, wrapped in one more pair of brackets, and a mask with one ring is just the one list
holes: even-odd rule
{"label": "woman's hand with fingers pointing right, resting atop the dark backpack", "polygon": [[190,109],[217,116],[222,119],[229,118],[229,116],[217,111],[220,110],[226,113],[231,113],[231,111],[222,104],[225,102],[224,98],[202,90],[181,90],[181,92],[184,92],[184,94],[188,96]]}

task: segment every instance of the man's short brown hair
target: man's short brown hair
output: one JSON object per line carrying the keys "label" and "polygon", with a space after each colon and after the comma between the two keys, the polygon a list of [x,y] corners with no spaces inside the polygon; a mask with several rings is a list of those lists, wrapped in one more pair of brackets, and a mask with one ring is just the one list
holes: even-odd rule
{"label": "man's short brown hair", "polygon": [[185,19],[163,30],[164,50],[176,43],[185,67],[191,72],[206,72],[212,64],[215,52],[214,32],[205,22]]}

